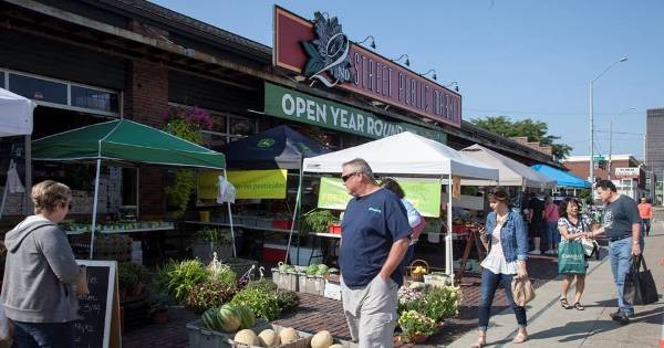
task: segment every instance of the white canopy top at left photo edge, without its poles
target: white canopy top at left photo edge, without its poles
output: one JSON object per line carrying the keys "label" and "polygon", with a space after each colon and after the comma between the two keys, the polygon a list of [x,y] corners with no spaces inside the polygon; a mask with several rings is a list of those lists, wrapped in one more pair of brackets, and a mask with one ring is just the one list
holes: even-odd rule
{"label": "white canopy top at left photo edge, without its poles", "polygon": [[0,88],[0,137],[32,134],[32,112],[37,104]]}

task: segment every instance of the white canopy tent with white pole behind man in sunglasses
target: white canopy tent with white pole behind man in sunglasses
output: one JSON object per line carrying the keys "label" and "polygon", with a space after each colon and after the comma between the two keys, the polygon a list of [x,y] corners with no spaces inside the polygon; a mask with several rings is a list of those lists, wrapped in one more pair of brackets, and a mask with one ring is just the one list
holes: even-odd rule
{"label": "white canopy tent with white pole behind man in sunglasses", "polygon": [[[452,181],[461,179],[498,180],[498,170],[481,164],[438,141],[404,131],[378,140],[335,152],[305,158],[303,170],[309,172],[341,172],[342,164],[355,158],[369,162],[375,173],[407,175],[440,178],[448,184],[448,201],[452,202]],[[447,207],[452,212],[452,204]],[[452,226],[452,213],[447,214]],[[290,245],[289,245],[290,246]],[[452,228],[445,236],[445,271],[453,277]]]}

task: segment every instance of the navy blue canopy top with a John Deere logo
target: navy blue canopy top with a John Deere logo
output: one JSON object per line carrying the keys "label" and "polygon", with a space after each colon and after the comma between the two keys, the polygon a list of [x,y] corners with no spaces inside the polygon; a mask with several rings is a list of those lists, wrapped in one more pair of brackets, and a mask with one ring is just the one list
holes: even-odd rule
{"label": "navy blue canopy top with a John Deere logo", "polygon": [[315,141],[287,126],[231,141],[221,151],[228,168],[238,169],[300,169],[302,158],[326,152]]}

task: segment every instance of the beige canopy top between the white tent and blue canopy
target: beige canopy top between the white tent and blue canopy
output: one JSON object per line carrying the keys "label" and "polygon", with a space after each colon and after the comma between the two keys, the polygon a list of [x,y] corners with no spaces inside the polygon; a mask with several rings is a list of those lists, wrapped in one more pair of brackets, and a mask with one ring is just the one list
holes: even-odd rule
{"label": "beige canopy top between the white tent and blue canopy", "polygon": [[[479,144],[471,145],[463,150],[461,154],[491,167],[498,169],[498,186],[516,186],[522,188],[551,189],[556,187],[556,181],[551,180],[530,167],[520,164],[507,156],[500,155]],[[491,180],[465,179],[461,184],[466,186],[490,186],[495,184]]]}

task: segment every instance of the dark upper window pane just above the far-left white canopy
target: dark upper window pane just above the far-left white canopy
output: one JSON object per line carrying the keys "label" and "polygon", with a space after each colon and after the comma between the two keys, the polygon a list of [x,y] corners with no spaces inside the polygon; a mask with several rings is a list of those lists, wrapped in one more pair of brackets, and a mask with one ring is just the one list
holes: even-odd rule
{"label": "dark upper window pane just above the far-left white canopy", "polygon": [[68,105],[66,84],[63,83],[9,74],[9,89],[34,101]]}

